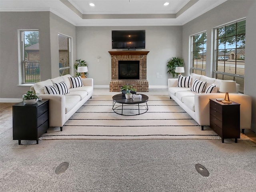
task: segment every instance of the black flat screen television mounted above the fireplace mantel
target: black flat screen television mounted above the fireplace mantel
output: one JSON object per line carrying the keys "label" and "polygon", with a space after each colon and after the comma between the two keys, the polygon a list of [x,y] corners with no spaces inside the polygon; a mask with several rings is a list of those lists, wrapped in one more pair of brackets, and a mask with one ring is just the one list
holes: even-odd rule
{"label": "black flat screen television mounted above the fireplace mantel", "polygon": [[112,49],[144,49],[145,30],[112,31]]}

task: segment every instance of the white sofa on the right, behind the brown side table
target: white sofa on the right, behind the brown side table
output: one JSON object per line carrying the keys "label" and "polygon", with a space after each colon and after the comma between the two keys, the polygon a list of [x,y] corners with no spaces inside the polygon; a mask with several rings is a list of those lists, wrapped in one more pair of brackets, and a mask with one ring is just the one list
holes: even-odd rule
{"label": "white sofa on the right, behind the brown side table", "polygon": [[[206,82],[206,88],[215,84],[217,93],[196,93],[191,88],[177,87],[178,78],[168,79],[168,92],[177,104],[179,104],[204,130],[204,126],[210,125],[210,98],[224,98],[225,93],[219,93],[220,83],[222,80],[209,78],[203,75],[192,73],[190,75],[192,86],[195,79]],[[250,129],[252,116],[252,98],[245,94],[239,94],[239,84],[236,84],[237,93],[230,93],[230,100],[240,104],[240,129]]]}

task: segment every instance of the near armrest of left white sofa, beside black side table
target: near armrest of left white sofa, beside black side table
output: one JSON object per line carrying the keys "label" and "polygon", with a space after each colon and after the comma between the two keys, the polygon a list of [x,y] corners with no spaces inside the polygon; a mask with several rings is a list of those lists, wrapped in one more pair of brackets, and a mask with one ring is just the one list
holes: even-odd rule
{"label": "near armrest of left white sofa, beside black side table", "polygon": [[66,122],[66,98],[64,95],[38,94],[42,99],[49,99],[50,127],[62,127]]}

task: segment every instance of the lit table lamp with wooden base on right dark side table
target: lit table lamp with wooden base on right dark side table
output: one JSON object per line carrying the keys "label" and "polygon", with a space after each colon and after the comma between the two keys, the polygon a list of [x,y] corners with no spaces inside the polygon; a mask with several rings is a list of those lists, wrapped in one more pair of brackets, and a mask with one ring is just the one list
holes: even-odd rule
{"label": "lit table lamp with wooden base on right dark side table", "polygon": [[236,82],[232,80],[222,80],[222,82],[220,83],[220,92],[226,93],[224,100],[222,100],[223,103],[232,103],[229,100],[228,93],[236,92]]}

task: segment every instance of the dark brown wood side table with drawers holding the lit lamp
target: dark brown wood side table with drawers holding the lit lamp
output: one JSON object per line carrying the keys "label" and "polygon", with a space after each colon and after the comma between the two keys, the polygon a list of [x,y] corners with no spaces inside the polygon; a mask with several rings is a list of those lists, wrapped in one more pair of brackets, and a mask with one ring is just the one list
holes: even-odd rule
{"label": "dark brown wood side table with drawers holding the lit lamp", "polygon": [[210,99],[210,128],[212,128],[224,143],[224,138],[240,138],[240,104],[232,102],[224,104],[216,99]]}

